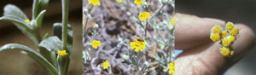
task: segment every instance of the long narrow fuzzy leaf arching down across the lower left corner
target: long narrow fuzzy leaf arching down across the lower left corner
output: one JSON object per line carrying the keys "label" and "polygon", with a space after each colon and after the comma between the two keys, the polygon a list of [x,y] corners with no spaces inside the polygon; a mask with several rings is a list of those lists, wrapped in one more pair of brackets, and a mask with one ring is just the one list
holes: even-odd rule
{"label": "long narrow fuzzy leaf arching down across the lower left corner", "polygon": [[50,72],[57,75],[58,72],[55,69],[55,67],[49,63],[42,55],[40,55],[38,52],[36,52],[33,49],[30,49],[26,47],[25,45],[18,44],[18,43],[9,43],[5,44],[0,48],[0,52],[3,52],[4,50],[8,49],[15,49],[15,50],[21,50],[26,52],[26,55],[30,55],[33,59],[36,59],[37,61],[41,62],[41,64],[49,69]]}

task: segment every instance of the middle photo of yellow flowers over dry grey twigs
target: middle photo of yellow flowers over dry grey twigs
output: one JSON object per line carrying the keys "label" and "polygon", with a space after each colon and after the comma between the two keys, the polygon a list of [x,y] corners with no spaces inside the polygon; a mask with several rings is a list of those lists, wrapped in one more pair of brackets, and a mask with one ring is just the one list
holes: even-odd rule
{"label": "middle photo of yellow flowers over dry grey twigs", "polygon": [[83,0],[83,75],[174,75],[174,0]]}

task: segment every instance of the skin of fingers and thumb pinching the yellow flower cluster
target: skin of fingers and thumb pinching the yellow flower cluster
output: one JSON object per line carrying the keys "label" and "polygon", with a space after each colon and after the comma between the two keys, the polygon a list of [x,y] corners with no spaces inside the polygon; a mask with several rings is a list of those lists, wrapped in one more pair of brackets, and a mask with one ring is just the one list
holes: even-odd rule
{"label": "skin of fingers and thumb pinching the yellow flower cluster", "polygon": [[235,24],[239,34],[231,49],[231,58],[219,53],[220,44],[210,39],[212,26],[224,27],[224,20],[200,18],[189,14],[176,14],[175,47],[183,53],[175,59],[176,75],[222,75],[230,66],[240,61],[255,46],[253,30],[243,24]]}

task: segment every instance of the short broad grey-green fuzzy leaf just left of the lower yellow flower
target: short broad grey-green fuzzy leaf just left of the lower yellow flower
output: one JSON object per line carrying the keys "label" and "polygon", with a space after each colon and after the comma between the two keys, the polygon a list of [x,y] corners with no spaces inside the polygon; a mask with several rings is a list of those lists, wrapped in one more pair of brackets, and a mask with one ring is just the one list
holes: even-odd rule
{"label": "short broad grey-green fuzzy leaf just left of the lower yellow flower", "polygon": [[49,37],[44,39],[41,43],[38,45],[39,47],[43,47],[45,49],[48,49],[49,51],[57,51],[62,49],[62,42],[57,37]]}

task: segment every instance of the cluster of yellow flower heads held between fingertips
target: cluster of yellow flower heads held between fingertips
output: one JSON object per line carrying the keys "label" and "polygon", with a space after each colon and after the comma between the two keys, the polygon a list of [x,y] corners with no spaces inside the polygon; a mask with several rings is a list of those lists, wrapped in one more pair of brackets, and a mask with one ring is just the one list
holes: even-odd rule
{"label": "cluster of yellow flower heads held between fingertips", "polygon": [[230,48],[230,45],[236,41],[236,36],[239,33],[238,27],[232,22],[228,22],[225,29],[220,26],[213,26],[211,30],[211,36],[213,42],[219,42],[222,44],[220,48],[220,54],[226,56],[233,56],[235,51]]}

